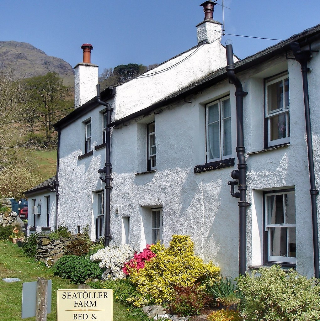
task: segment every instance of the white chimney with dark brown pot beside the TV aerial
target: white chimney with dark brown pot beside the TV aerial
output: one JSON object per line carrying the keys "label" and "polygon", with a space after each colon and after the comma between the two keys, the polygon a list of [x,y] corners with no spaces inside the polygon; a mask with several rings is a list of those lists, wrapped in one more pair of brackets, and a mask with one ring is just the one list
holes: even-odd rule
{"label": "white chimney with dark brown pot beside the TV aerial", "polygon": [[222,37],[222,23],[213,20],[213,11],[216,3],[214,1],[206,1],[200,6],[203,7],[204,20],[197,25],[198,44],[210,43],[218,41],[220,43]]}

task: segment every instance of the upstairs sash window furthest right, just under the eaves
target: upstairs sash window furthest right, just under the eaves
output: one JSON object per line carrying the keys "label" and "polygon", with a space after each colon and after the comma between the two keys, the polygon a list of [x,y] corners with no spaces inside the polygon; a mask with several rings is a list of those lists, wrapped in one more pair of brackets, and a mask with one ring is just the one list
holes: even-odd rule
{"label": "upstairs sash window furthest right, just under the eaves", "polygon": [[269,78],[265,83],[265,127],[267,147],[290,142],[288,74]]}

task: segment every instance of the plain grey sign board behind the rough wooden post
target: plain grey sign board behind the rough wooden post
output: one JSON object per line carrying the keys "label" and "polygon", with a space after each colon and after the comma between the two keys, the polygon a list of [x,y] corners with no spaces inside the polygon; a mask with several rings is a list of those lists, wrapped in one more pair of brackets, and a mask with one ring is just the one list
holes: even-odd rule
{"label": "plain grey sign board behind the rough wooden post", "polygon": [[[37,283],[37,281],[22,283],[22,319],[36,316]],[[51,312],[51,292],[52,280],[48,280],[47,313]]]}

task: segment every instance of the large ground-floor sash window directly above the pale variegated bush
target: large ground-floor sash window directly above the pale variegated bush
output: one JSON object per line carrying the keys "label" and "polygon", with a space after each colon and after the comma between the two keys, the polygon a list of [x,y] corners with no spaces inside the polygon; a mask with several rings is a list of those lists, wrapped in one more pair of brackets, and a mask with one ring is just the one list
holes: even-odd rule
{"label": "large ground-floor sash window directly above the pale variegated bush", "polygon": [[296,263],[295,191],[264,192],[265,260]]}

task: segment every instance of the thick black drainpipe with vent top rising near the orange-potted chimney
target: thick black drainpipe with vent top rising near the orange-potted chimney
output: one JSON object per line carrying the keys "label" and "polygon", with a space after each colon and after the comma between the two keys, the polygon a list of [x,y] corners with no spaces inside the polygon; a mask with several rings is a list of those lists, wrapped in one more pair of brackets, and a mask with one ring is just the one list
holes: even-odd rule
{"label": "thick black drainpipe with vent top rising near the orange-potted chimney", "polygon": [[111,235],[110,235],[110,194],[111,194],[111,162],[110,162],[110,146],[111,146],[111,108],[110,104],[101,100],[100,85],[97,85],[97,100],[100,105],[107,107],[107,135],[106,135],[106,162],[104,168],[98,170],[99,174],[105,173],[105,178],[102,182],[106,183],[106,219],[105,219],[105,233],[104,233],[104,246],[109,246]]}

